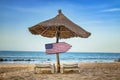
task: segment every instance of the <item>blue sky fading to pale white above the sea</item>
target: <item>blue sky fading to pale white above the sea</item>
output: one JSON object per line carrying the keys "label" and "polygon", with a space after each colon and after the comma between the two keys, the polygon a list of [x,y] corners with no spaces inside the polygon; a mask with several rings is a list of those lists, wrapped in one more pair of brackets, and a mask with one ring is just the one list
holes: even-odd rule
{"label": "blue sky fading to pale white above the sea", "polygon": [[33,35],[28,28],[62,13],[91,33],[61,39],[70,52],[120,52],[120,0],[0,0],[0,51],[45,51],[56,38]]}

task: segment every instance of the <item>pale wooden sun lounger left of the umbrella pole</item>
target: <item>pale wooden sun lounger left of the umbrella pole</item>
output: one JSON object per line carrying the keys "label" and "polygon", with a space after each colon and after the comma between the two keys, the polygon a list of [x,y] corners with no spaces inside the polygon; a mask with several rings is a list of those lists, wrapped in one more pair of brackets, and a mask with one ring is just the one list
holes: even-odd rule
{"label": "pale wooden sun lounger left of the umbrella pole", "polygon": [[50,64],[50,63],[41,63],[41,64],[36,64],[34,67],[34,72],[38,73],[38,71],[42,71],[42,70],[46,70],[49,69],[51,70],[51,73],[55,72],[55,65],[54,64]]}

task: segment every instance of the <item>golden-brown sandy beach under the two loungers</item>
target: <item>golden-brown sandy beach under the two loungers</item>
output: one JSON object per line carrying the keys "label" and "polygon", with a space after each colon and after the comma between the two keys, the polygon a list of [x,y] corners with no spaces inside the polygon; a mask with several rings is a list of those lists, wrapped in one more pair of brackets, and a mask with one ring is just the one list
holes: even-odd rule
{"label": "golden-brown sandy beach under the two loungers", "polygon": [[0,64],[0,80],[120,80],[120,62],[80,63],[80,72],[34,73],[34,64]]}

